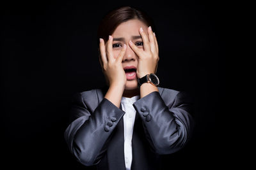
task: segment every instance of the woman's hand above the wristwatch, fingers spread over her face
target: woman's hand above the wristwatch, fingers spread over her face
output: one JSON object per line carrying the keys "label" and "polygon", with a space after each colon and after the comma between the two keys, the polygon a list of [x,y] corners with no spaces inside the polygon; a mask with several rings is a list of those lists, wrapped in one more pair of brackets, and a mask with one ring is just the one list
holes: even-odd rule
{"label": "woman's hand above the wristwatch, fingers spread over her face", "polygon": [[140,28],[139,32],[143,41],[144,50],[138,48],[132,41],[129,41],[129,45],[134,53],[138,55],[137,76],[141,78],[146,74],[156,73],[159,56],[156,35],[153,33],[151,27],[148,27],[148,34],[142,28]]}

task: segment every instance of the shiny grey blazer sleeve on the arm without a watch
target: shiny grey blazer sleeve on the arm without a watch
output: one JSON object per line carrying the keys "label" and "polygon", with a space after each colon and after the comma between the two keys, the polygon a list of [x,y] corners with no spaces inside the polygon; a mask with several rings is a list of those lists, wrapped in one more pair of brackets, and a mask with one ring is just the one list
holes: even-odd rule
{"label": "shiny grey blazer sleeve on the arm without a watch", "polygon": [[74,95],[71,115],[75,120],[64,134],[70,152],[85,166],[97,164],[106,152],[111,132],[124,113],[106,98],[94,111],[90,111],[83,96],[80,93]]}

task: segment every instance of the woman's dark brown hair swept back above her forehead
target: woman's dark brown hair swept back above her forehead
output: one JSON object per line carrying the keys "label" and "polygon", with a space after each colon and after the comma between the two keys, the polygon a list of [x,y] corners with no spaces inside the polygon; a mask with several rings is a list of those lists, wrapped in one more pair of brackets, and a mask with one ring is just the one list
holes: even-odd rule
{"label": "woman's dark brown hair swept back above her forehead", "polygon": [[113,34],[118,25],[132,19],[138,19],[155,30],[152,19],[144,11],[137,10],[131,6],[121,6],[110,11],[102,18],[98,28],[98,39],[102,38],[105,42],[108,41],[108,36]]}

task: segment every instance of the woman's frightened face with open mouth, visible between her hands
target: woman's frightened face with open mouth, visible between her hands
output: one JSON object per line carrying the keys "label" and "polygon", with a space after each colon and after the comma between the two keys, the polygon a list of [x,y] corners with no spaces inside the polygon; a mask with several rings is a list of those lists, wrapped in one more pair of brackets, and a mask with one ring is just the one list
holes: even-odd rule
{"label": "woman's frightened face with open mouth, visible between her hands", "polygon": [[115,58],[118,56],[120,50],[122,50],[122,46],[124,46],[124,44],[127,45],[124,59],[122,60],[122,66],[125,70],[127,78],[125,90],[138,88],[136,69],[132,72],[127,72],[126,68],[131,66],[137,68],[138,66],[138,56],[129,46],[129,41],[131,40],[135,45],[138,46],[138,48],[143,49],[143,42],[139,32],[140,27],[142,27],[143,30],[147,33],[147,25],[145,25],[143,22],[137,19],[128,20],[127,22],[123,22],[122,24],[118,25],[112,34],[113,55]]}

